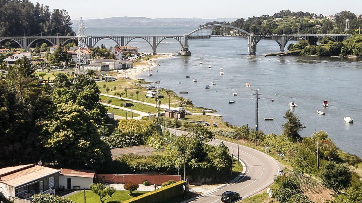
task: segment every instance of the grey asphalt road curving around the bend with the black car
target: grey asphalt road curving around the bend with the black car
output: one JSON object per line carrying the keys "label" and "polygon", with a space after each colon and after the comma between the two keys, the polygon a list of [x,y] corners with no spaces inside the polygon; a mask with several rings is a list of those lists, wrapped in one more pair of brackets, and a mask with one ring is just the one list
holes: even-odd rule
{"label": "grey asphalt road curving around the bend with the black car", "polygon": [[[230,152],[234,150],[234,156],[237,157],[237,145],[231,142],[223,142],[229,148]],[[209,144],[218,145],[220,144],[220,141],[214,139]],[[282,168],[278,161],[269,155],[240,144],[239,156],[241,161],[245,164],[245,169],[243,168],[245,174],[235,178],[231,183],[185,202],[221,202],[221,194],[228,190],[236,191],[240,194],[240,197],[245,199],[271,185],[271,183],[273,183],[274,176],[277,175],[279,170]]]}

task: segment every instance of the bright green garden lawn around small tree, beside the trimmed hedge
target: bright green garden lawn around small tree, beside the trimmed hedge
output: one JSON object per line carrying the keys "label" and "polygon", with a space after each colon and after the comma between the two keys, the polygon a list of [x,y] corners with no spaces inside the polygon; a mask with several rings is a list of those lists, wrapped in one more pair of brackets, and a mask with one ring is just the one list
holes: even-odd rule
{"label": "bright green garden lawn around small tree, beside the trimmed hedge", "polygon": [[[127,199],[131,199],[134,198],[135,196],[139,196],[142,195],[144,193],[147,193],[147,191],[134,191],[132,193],[132,196],[128,195],[130,192],[129,191],[115,191],[115,193],[106,200],[107,203],[119,203],[119,202],[123,202]],[[72,196],[68,197],[69,199],[73,200],[74,202],[77,203],[84,203],[84,193],[83,191],[74,194]],[[86,191],[85,192],[85,199],[87,201],[87,203],[100,203],[101,201],[99,200],[99,196],[94,194],[92,191]]]}

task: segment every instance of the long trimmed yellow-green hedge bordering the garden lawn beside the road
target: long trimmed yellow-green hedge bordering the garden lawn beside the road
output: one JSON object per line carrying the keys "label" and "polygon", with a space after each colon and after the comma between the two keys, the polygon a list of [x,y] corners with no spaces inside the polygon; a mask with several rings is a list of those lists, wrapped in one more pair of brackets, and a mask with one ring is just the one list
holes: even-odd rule
{"label": "long trimmed yellow-green hedge bordering the garden lawn beside the road", "polygon": [[183,185],[186,186],[185,181],[178,181],[171,185],[161,187],[160,189],[153,190],[152,192],[137,196],[135,198],[124,201],[123,203],[157,203],[163,202],[174,196],[182,195],[184,191]]}

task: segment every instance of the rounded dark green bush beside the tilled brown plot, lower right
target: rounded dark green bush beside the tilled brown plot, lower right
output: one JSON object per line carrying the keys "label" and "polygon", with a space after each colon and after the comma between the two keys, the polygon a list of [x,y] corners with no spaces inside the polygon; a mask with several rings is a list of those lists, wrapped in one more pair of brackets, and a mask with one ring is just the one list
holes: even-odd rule
{"label": "rounded dark green bush beside the tilled brown plot, lower right", "polygon": [[332,161],[323,166],[320,172],[323,185],[331,187],[334,191],[346,188],[352,180],[349,168],[343,164]]}

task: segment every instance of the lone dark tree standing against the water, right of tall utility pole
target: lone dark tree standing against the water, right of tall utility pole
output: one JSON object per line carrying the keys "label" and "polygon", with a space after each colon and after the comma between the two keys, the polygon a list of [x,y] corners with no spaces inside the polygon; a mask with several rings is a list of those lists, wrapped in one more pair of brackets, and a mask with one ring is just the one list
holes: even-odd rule
{"label": "lone dark tree standing against the water, right of tall utility pole", "polygon": [[294,115],[291,111],[286,111],[283,116],[288,121],[282,125],[283,128],[283,134],[289,138],[291,138],[293,141],[297,141],[300,139],[300,135],[298,132],[306,126],[302,122],[299,121],[299,118]]}

